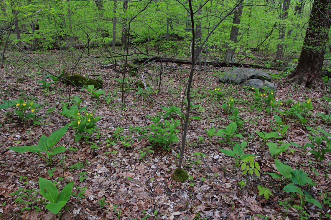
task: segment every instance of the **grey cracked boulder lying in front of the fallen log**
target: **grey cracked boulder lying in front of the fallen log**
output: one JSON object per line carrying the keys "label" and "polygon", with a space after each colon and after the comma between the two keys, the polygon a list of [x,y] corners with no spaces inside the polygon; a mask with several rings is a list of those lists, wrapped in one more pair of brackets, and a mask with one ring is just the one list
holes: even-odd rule
{"label": "grey cracked boulder lying in front of the fallen log", "polygon": [[249,68],[236,68],[222,76],[218,82],[225,84],[239,84],[259,89],[274,89],[275,85],[270,82],[271,77],[268,73],[261,70]]}

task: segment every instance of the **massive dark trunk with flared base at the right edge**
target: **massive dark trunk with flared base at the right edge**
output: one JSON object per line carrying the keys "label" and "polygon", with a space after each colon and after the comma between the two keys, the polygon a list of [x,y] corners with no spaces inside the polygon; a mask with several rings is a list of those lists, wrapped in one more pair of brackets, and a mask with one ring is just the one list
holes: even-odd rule
{"label": "massive dark trunk with flared base at the right edge", "polygon": [[328,43],[331,21],[331,0],[315,0],[310,13],[304,45],[297,68],[288,76],[289,82],[311,89],[323,89],[321,71]]}

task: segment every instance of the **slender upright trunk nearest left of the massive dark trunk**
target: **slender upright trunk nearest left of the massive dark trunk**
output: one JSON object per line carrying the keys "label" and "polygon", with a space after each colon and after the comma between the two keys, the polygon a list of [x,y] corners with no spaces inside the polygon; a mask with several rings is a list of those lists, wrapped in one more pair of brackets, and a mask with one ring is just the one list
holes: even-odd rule
{"label": "slender upright trunk nearest left of the massive dark trunk", "polygon": [[[278,34],[278,40],[279,42],[283,42],[285,39],[285,24],[284,21],[285,19],[287,19],[287,15],[288,15],[288,10],[290,7],[290,1],[291,0],[284,0],[283,2],[283,10],[282,10],[282,20],[279,23],[279,34]],[[276,53],[276,58],[275,60],[279,60],[282,61],[283,59],[283,48],[284,45],[282,43],[278,43],[277,44],[277,53]]]}

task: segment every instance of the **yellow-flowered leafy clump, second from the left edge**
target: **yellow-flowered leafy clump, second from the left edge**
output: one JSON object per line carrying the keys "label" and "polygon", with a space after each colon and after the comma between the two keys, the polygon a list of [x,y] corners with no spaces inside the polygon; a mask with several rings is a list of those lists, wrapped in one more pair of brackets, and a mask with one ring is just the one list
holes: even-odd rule
{"label": "yellow-flowered leafy clump, second from the left edge", "polygon": [[60,114],[70,118],[71,122],[69,126],[76,132],[75,141],[79,141],[82,137],[85,139],[90,138],[93,132],[98,128],[95,123],[102,117],[94,117],[94,112],[88,112],[86,109],[87,107],[78,109],[77,105],[72,105],[69,109],[66,106],[62,107]]}

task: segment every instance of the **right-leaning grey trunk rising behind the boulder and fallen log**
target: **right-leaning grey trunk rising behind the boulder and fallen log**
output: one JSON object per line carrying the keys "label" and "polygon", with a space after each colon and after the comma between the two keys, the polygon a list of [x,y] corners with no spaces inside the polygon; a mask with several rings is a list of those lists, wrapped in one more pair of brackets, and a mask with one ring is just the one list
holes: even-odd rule
{"label": "right-leaning grey trunk rising behind the boulder and fallen log", "polygon": [[[230,41],[233,42],[233,44],[237,43],[237,38],[238,38],[238,32],[239,32],[239,27],[238,24],[240,24],[240,17],[241,13],[243,11],[243,7],[240,7],[238,10],[234,12],[234,17],[233,17],[233,25],[231,27],[231,32],[230,32]],[[234,45],[233,45],[234,46]],[[224,56],[224,61],[228,63],[235,63],[234,60],[234,47],[229,46],[226,49],[225,56]]]}

